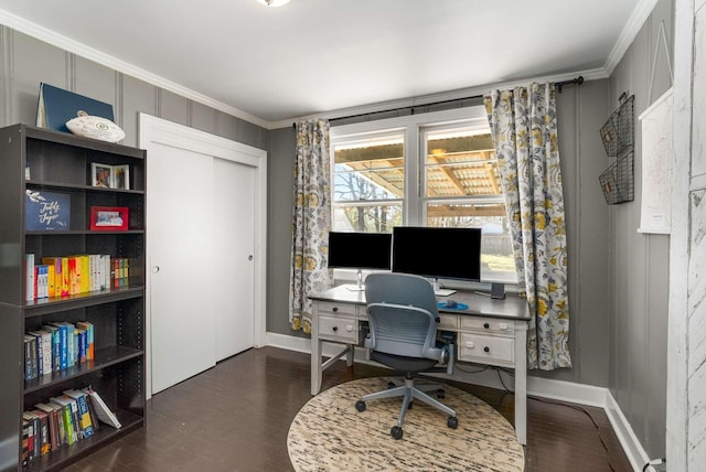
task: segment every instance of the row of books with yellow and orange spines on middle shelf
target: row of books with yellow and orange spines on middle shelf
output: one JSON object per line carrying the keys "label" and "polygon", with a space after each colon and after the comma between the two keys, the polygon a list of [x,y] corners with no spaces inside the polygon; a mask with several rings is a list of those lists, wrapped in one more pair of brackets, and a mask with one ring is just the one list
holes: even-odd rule
{"label": "row of books with yellow and orange spines on middle shelf", "polygon": [[106,254],[42,257],[24,255],[25,300],[122,288],[128,286],[129,259]]}

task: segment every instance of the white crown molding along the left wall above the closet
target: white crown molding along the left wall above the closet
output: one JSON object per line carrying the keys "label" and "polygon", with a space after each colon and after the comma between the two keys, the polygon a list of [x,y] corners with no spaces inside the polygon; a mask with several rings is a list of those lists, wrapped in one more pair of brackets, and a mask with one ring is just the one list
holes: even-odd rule
{"label": "white crown molding along the left wall above the closet", "polygon": [[136,67],[132,64],[129,64],[125,61],[120,61],[98,50],[86,46],[85,44],[82,44],[77,41],[68,39],[62,34],[55,33],[51,30],[47,30],[46,28],[40,26],[39,24],[35,24],[15,14],[12,14],[6,10],[0,10],[0,23],[15,31],[19,31],[21,33],[35,37],[40,41],[44,41],[53,46],[61,47],[62,50],[65,50],[69,53],[76,54],[81,57],[85,57],[89,61],[94,61],[100,65],[113,68],[114,71],[120,72],[122,74],[129,75],[140,81],[145,81],[148,84],[154,85],[156,87],[160,87],[165,90],[172,92],[181,97],[188,98],[193,101],[197,101],[202,105],[206,105],[211,108],[221,110],[236,118],[244,119],[246,121],[249,121],[263,128],[267,128],[267,129],[270,128],[270,125],[261,118],[247,114],[240,109],[234,108],[222,101],[215,100],[211,97],[207,97],[190,88],[186,88],[182,85],[171,82],[157,74],[152,74],[140,67]]}

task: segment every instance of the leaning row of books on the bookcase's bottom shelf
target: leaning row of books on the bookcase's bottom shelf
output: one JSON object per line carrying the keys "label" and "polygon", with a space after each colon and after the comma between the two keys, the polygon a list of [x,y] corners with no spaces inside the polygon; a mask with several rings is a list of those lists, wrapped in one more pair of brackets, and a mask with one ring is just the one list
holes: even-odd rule
{"label": "leaning row of books on the bookcase's bottom shelf", "polygon": [[34,405],[22,414],[22,464],[90,438],[100,423],[121,427],[115,412],[90,387],[64,390],[63,395]]}

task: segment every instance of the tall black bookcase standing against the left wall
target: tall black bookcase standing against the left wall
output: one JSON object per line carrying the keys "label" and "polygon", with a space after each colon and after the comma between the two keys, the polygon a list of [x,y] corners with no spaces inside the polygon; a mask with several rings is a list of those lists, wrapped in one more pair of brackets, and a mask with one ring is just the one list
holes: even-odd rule
{"label": "tall black bookcase standing against the left wall", "polygon": [[[143,150],[69,133],[25,125],[0,129],[0,457],[14,458],[3,462],[3,470],[62,470],[145,426],[145,160]],[[129,189],[93,186],[93,163],[128,165]],[[30,226],[25,218],[36,202],[25,191],[62,194],[64,206],[69,207],[63,226]],[[90,230],[93,206],[127,207],[127,230]],[[43,257],[107,255],[111,271],[118,268],[113,266],[118,260],[126,261],[128,273],[125,277],[120,266],[121,283],[111,279],[110,288],[88,291],[83,287],[69,296],[28,301],[26,254],[33,254],[36,264]],[[107,272],[107,266],[104,269]],[[60,322],[93,325],[93,360],[64,368],[52,366],[46,375],[28,375],[25,356],[33,351],[25,350],[24,334]],[[121,427],[99,423],[93,436],[71,446],[23,458],[23,412],[66,390],[85,387],[100,395]]]}

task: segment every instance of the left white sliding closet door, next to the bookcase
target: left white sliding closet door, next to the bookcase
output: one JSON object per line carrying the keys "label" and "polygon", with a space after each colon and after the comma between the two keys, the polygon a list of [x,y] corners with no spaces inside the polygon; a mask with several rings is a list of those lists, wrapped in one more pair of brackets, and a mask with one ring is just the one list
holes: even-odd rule
{"label": "left white sliding closet door, next to the bookcase", "polygon": [[150,147],[148,155],[154,394],[215,365],[213,279],[217,275],[213,158],[159,143]]}

